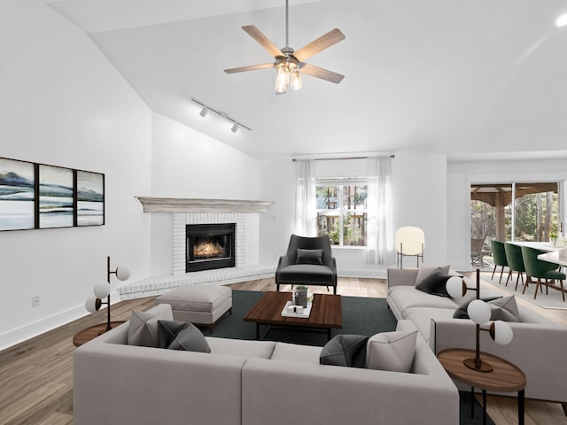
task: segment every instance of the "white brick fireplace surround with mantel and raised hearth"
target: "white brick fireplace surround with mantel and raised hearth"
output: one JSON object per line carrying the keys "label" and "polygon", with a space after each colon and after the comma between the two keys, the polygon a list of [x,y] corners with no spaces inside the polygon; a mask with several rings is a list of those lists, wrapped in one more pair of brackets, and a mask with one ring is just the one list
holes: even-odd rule
{"label": "white brick fireplace surround with mantel and raised hearth", "polygon": [[[173,214],[172,274],[151,276],[118,289],[121,299],[159,295],[185,284],[222,285],[271,277],[276,265],[251,265],[246,261],[246,216],[266,213],[270,201],[138,197],[144,213]],[[185,273],[185,227],[188,224],[236,223],[236,267]]]}

